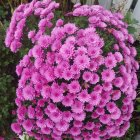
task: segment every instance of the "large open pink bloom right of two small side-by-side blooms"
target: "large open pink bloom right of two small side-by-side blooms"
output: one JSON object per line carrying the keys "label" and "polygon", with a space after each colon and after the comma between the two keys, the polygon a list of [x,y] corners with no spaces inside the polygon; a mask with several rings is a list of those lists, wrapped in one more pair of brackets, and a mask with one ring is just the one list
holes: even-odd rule
{"label": "large open pink bloom right of two small side-by-side blooms", "polygon": [[110,69],[103,70],[101,75],[102,75],[102,80],[105,82],[111,82],[115,78],[115,72]]}

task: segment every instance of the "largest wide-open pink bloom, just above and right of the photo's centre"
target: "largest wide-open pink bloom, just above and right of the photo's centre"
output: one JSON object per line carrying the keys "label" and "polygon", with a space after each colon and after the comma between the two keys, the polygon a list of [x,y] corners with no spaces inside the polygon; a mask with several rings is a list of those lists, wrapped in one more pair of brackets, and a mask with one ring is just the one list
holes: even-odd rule
{"label": "largest wide-open pink bloom, just above and right of the photo's centre", "polygon": [[84,70],[89,67],[90,59],[87,55],[78,55],[74,63],[78,66],[80,70]]}

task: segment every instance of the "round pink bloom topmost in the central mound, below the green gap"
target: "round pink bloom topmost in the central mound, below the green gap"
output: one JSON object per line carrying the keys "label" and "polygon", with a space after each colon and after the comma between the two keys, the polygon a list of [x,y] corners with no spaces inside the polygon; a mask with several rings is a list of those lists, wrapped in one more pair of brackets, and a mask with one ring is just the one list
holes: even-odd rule
{"label": "round pink bloom topmost in the central mound, below the green gap", "polygon": [[64,30],[68,34],[73,34],[77,30],[77,27],[73,23],[67,23],[64,25]]}

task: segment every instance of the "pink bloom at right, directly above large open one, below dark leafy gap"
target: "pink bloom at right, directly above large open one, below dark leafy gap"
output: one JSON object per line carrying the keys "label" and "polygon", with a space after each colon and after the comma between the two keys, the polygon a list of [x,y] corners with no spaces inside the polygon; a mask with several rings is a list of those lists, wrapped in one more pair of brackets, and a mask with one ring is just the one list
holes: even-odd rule
{"label": "pink bloom at right, directly above large open one, below dark leafy gap", "polygon": [[116,67],[116,63],[117,63],[117,61],[116,61],[116,59],[115,59],[115,57],[113,55],[107,56],[105,58],[105,66],[107,68],[114,68],[114,67]]}

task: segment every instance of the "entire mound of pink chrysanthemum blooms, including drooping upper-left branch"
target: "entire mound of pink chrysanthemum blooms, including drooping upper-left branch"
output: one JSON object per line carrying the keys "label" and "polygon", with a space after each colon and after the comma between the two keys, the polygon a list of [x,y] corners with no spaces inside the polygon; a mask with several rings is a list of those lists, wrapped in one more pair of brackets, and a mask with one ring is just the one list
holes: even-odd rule
{"label": "entire mound of pink chrysanthemum blooms, including drooping upper-left branch", "polygon": [[[5,43],[17,52],[27,18],[40,18],[38,30],[28,33],[33,47],[16,67],[21,78],[12,130],[37,140],[122,137],[130,126],[139,67],[127,24],[119,13],[98,5],[77,4],[71,14],[87,17],[87,28],[62,19],[53,25],[58,7],[51,0],[33,0],[20,5],[11,19]],[[97,29],[116,40],[107,53]]]}

